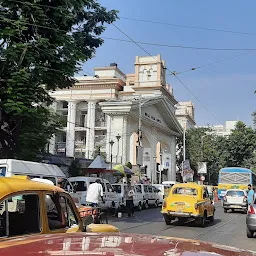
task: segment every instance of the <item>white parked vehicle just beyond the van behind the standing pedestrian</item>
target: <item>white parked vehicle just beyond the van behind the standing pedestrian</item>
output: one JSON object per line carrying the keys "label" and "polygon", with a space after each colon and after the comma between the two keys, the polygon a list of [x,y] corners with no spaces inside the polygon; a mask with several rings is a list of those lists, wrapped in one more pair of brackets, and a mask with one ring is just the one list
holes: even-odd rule
{"label": "white parked vehicle just beyond the van behind the standing pedestrian", "polygon": [[144,208],[148,209],[149,206],[158,206],[158,192],[152,185],[136,184],[135,188],[143,196]]}

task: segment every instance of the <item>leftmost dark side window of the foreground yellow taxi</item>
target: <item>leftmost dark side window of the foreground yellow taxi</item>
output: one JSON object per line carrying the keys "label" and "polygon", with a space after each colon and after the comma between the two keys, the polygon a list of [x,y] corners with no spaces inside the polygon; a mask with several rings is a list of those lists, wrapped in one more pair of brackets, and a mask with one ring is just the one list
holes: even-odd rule
{"label": "leftmost dark side window of the foreground yellow taxi", "polygon": [[0,237],[41,232],[37,194],[18,194],[0,202]]}

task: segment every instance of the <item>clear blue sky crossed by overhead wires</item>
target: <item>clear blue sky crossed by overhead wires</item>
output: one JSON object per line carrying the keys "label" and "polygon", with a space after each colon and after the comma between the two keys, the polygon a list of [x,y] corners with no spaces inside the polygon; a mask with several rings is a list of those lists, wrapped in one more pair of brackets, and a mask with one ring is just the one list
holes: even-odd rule
{"label": "clear blue sky crossed by overhead wires", "polygon": [[[215,0],[101,0],[108,9],[119,10],[115,24],[135,41],[168,45],[208,48],[256,49],[256,1]],[[123,17],[164,23],[206,27],[221,30],[255,33],[215,32],[131,21]],[[104,37],[127,38],[109,25]],[[182,82],[206,106],[199,103],[173,76],[167,81],[174,88],[178,101],[192,100],[198,125],[219,124],[226,120],[242,120],[251,125],[251,113],[256,110],[256,51],[208,51],[142,45],[150,54],[160,53],[170,70],[183,71],[221,59],[233,59],[179,75]],[[134,72],[135,56],[146,55],[129,42],[105,40],[96,56],[85,63],[84,71],[93,72],[95,66],[118,63],[125,73]],[[240,55],[240,56],[238,56]]]}

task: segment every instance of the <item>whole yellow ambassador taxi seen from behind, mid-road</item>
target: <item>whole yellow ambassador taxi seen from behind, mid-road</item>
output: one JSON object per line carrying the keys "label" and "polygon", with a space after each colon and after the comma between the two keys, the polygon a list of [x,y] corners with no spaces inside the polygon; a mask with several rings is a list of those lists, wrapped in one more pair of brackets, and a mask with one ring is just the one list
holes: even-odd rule
{"label": "whole yellow ambassador taxi seen from behind, mid-road", "polygon": [[180,222],[194,218],[204,227],[206,220],[214,222],[215,207],[206,187],[196,183],[179,183],[171,188],[161,212],[167,225],[176,218]]}

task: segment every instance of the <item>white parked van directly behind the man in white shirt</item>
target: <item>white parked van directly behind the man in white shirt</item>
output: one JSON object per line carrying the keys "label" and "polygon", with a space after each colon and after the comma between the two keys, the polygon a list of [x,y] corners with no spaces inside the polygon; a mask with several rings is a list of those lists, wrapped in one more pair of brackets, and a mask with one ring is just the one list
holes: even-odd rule
{"label": "white parked van directly behind the man in white shirt", "polygon": [[[72,177],[69,178],[69,181],[73,185],[73,187],[76,188],[76,193],[80,196],[81,204],[86,204],[86,195],[87,195],[87,188],[90,184],[94,183],[96,181],[96,177]],[[116,194],[114,188],[111,186],[108,180],[100,179],[102,182],[103,187],[103,198],[105,203],[103,204],[101,201],[99,201],[99,206],[101,209],[110,209],[115,208],[117,209],[120,205],[120,200],[118,195]]]}

